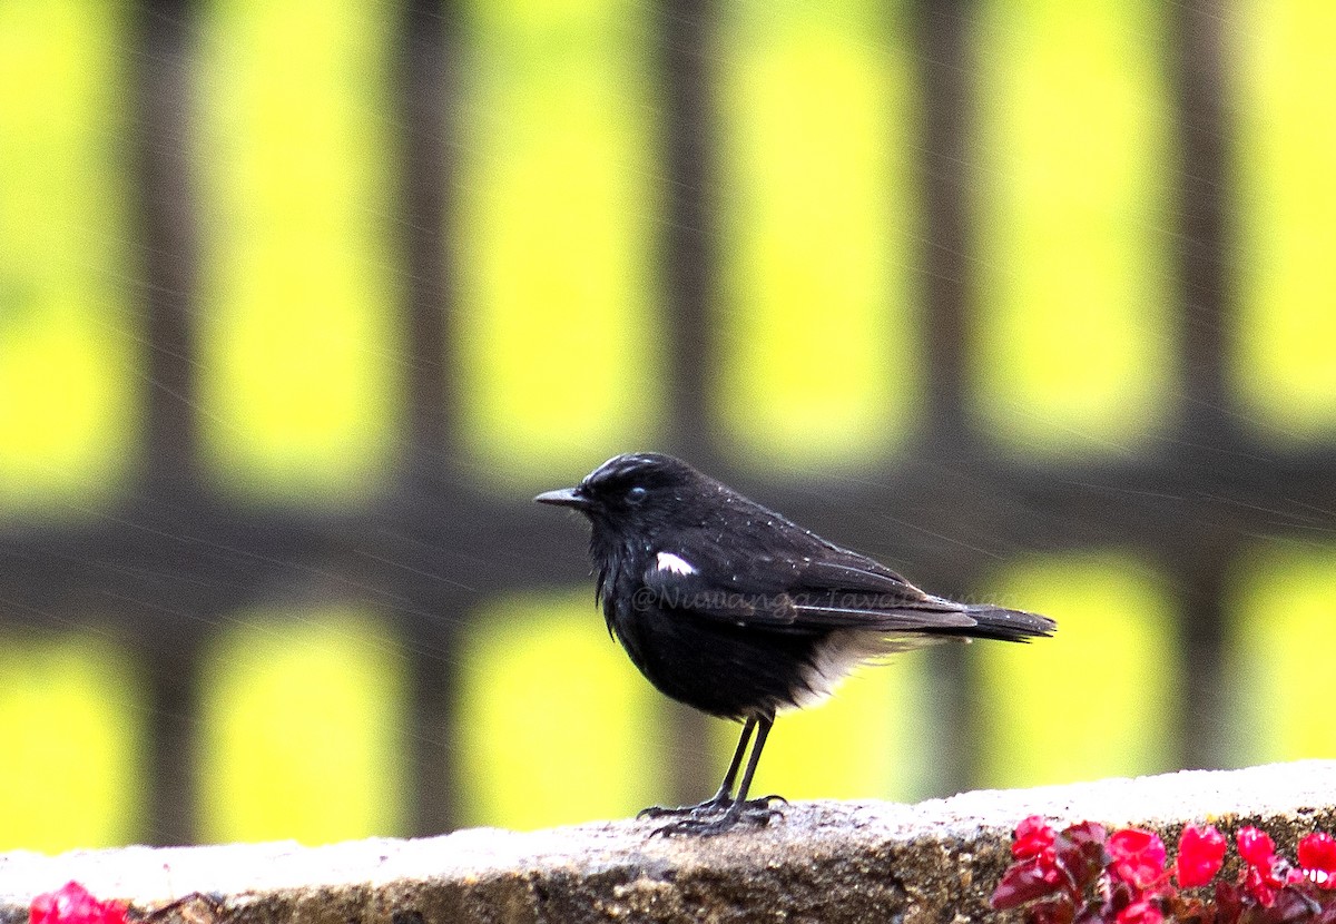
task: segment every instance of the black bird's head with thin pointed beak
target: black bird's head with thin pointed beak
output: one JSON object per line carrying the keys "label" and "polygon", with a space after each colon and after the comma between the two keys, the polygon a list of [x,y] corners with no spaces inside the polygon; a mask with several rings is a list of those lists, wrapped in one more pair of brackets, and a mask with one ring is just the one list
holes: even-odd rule
{"label": "black bird's head with thin pointed beak", "polygon": [[595,533],[647,538],[699,497],[708,481],[681,459],[659,453],[615,455],[574,487],[545,491],[538,503],[573,507],[589,518]]}

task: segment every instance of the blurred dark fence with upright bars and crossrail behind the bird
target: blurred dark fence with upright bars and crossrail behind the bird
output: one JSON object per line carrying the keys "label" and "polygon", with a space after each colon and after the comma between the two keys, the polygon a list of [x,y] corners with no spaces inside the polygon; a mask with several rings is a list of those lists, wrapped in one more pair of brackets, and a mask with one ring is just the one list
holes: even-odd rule
{"label": "blurred dark fence with upright bars and crossrail behind the bird", "polygon": [[[716,315],[723,243],[712,178],[723,156],[712,97],[720,11],[688,1],[649,13],[648,67],[661,89],[656,300],[669,319],[659,353],[671,358],[661,370],[664,423],[655,447],[943,592],[978,586],[998,555],[1114,547],[1157,562],[1178,616],[1178,648],[1164,652],[1160,669],[1192,677],[1174,720],[1184,765],[1224,760],[1218,705],[1232,684],[1222,650],[1232,569],[1255,537],[1329,538],[1336,517],[1336,443],[1273,441],[1238,409],[1230,385],[1232,338],[1248,331],[1232,302],[1237,248],[1222,195],[1234,182],[1222,73],[1226,7],[1185,3],[1164,13],[1170,136],[1181,164],[1172,172],[1168,207],[1177,246],[1165,254],[1176,280],[1173,307],[1160,332],[1177,370],[1169,422],[1132,453],[1069,459],[999,449],[970,411],[971,331],[985,310],[974,290],[971,212],[978,179],[971,100],[981,88],[971,83],[970,41],[978,8],[919,3],[902,11],[912,80],[926,101],[912,164],[925,242],[915,274],[922,349],[906,357],[923,370],[922,423],[903,455],[866,467],[863,477],[839,478],[766,477],[739,459],[721,433],[708,387],[727,361]],[[452,306],[462,284],[449,255],[452,244],[468,246],[449,220],[460,192],[454,126],[458,84],[468,77],[460,49],[468,11],[410,3],[394,17],[394,92],[385,118],[399,134],[405,439],[386,475],[390,489],[351,511],[236,503],[215,490],[200,459],[196,155],[186,139],[202,12],[202,4],[139,3],[122,49],[134,91],[128,142],[140,260],[135,292],[146,338],[136,371],[144,383],[144,465],[98,515],[0,523],[0,626],[47,630],[53,614],[96,612],[140,653],[151,716],[146,837],[182,843],[195,836],[192,741],[210,634],[228,613],[302,593],[294,585],[366,601],[393,614],[410,653],[418,729],[405,756],[410,828],[442,831],[460,817],[449,729],[461,717],[448,666],[464,617],[493,594],[569,586],[585,570],[570,523],[530,509],[526,493],[497,490],[469,458],[458,427],[461,391],[442,361],[456,350],[460,315]],[[591,450],[589,465],[599,461],[601,453]],[[868,511],[906,527],[890,531],[884,517]],[[593,613],[591,621],[597,622]],[[954,684],[943,689],[970,682],[958,658],[935,669]],[[959,753],[970,753],[969,696],[958,693],[941,709],[946,734],[958,738]],[[945,773],[945,788],[973,778],[969,760]]]}

